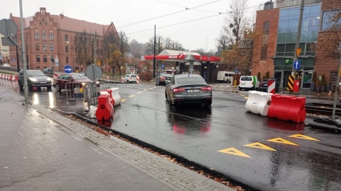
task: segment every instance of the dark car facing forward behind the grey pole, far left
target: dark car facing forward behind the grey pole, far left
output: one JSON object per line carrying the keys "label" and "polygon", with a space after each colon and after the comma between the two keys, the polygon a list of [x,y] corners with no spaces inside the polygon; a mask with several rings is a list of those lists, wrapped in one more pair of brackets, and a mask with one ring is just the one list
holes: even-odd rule
{"label": "dark car facing forward behind the grey pole, far left", "polygon": [[[29,90],[33,87],[41,88],[45,87],[50,89],[52,86],[52,79],[40,70],[26,70],[27,74],[27,86]],[[19,71],[18,74],[18,85],[19,88],[23,89],[23,70]]]}

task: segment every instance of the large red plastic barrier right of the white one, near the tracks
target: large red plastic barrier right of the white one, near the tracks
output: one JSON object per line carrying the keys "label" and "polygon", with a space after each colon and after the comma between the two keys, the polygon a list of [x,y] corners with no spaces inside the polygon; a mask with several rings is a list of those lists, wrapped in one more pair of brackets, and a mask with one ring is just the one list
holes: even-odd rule
{"label": "large red plastic barrier right of the white one, near the tracks", "polygon": [[268,117],[292,122],[304,122],[305,98],[271,95]]}

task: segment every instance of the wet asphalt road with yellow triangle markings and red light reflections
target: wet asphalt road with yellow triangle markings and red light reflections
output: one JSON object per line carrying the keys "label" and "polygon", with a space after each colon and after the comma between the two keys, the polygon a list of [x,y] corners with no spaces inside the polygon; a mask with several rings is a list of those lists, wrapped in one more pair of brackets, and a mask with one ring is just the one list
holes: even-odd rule
{"label": "wet asphalt road with yellow triangle markings and red light reflections", "polygon": [[[0,87],[23,96],[16,83]],[[212,107],[169,108],[164,86],[117,84],[122,98],[110,125],[258,190],[341,190],[341,137],[245,112],[247,92],[214,91]],[[82,110],[65,93],[32,91],[32,103]],[[63,100],[64,99],[64,100]],[[299,136],[303,134],[304,136]]]}

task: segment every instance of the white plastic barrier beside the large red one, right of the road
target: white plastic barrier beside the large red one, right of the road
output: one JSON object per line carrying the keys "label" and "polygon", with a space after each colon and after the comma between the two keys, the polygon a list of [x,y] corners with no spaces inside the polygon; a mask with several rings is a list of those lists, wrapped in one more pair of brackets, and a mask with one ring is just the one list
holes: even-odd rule
{"label": "white plastic barrier beside the large red one, right of the road", "polygon": [[245,104],[245,109],[248,112],[260,114],[262,116],[268,115],[271,104],[271,95],[272,93],[249,91],[249,99]]}

